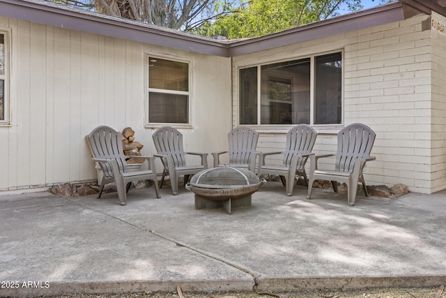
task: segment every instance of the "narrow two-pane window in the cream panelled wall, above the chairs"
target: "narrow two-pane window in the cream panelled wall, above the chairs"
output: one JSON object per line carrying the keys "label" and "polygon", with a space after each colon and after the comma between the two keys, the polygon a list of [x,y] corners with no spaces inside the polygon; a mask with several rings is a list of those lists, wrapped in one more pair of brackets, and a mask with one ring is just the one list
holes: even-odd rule
{"label": "narrow two-pane window in the cream panelled wall, above the chairs", "polygon": [[148,123],[189,123],[189,64],[148,57]]}

